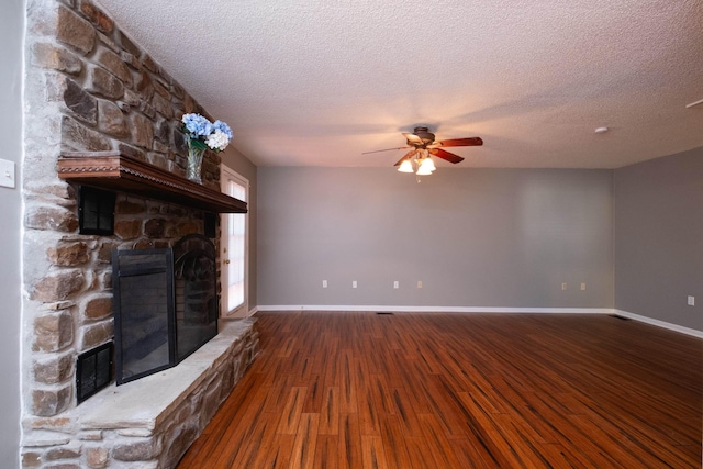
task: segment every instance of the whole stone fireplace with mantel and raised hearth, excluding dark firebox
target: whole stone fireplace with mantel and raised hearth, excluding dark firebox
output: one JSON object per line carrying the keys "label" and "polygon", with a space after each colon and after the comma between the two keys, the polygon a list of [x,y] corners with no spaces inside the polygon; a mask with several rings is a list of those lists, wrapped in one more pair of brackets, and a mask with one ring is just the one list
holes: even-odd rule
{"label": "whole stone fireplace with mantel and raised hearth, excluding dark firebox", "polygon": [[[226,211],[217,154],[207,153],[202,186],[183,179],[179,119],[210,116],[91,1],[29,0],[26,11],[22,465],[174,467],[256,355],[255,321],[219,320],[178,366],[113,380],[80,404],[77,359],[114,337],[114,250],[171,249]],[[116,178],[64,178],[70,152],[119,158]],[[81,186],[116,194],[113,234],[79,232]]]}

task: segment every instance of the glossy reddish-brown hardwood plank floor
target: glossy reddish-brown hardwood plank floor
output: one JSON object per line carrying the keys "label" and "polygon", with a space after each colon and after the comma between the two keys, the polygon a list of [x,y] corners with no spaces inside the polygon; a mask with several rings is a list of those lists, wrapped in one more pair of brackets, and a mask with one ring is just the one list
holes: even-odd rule
{"label": "glossy reddish-brown hardwood plank floor", "polygon": [[700,468],[703,340],[606,315],[258,313],[179,468]]}

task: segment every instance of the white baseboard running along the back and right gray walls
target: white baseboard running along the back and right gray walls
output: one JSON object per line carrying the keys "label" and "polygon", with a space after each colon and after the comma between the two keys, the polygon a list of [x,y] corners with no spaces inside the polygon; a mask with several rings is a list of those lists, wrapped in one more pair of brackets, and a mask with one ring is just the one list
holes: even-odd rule
{"label": "white baseboard running along the back and right gray walls", "polygon": [[694,337],[703,338],[703,331],[654,320],[627,311],[613,308],[480,308],[480,306],[379,306],[379,305],[338,305],[338,304],[284,304],[284,305],[258,305],[249,310],[249,316],[259,311],[379,311],[379,312],[408,312],[408,313],[545,313],[545,314],[616,314],[618,316],[663,327]]}

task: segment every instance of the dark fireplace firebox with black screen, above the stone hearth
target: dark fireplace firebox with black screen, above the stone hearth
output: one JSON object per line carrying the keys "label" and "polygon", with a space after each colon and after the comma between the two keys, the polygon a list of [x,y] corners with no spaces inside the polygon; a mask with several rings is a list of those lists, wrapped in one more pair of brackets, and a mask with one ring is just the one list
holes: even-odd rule
{"label": "dark fireplace firebox with black screen, above the stone hearth", "polygon": [[167,249],[113,252],[118,384],[174,367],[217,335],[215,263],[201,235]]}

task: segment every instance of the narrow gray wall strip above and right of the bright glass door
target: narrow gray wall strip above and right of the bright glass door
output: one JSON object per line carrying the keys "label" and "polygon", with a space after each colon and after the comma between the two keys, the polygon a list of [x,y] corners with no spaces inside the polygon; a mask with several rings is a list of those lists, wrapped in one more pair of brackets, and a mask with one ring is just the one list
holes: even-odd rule
{"label": "narrow gray wall strip above and right of the bright glass door", "polygon": [[[233,144],[236,145],[236,129],[234,130],[234,141]],[[249,270],[247,272],[247,281],[248,281],[248,302],[249,310],[253,310],[257,304],[257,295],[256,295],[256,236],[257,236],[257,223],[256,223],[256,213],[257,213],[257,168],[254,166],[249,159],[239,153],[233,145],[230,145],[222,153],[222,163],[227,166],[230,169],[234,170],[239,176],[245,177],[249,181],[249,200],[247,201],[247,206],[249,209],[248,213],[248,222],[249,222]]]}

